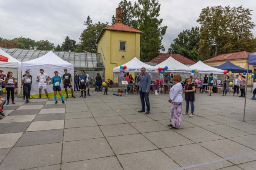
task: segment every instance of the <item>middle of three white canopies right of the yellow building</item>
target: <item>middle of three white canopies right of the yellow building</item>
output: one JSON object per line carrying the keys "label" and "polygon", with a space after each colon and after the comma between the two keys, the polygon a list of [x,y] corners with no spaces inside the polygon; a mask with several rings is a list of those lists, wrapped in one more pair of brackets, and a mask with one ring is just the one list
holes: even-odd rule
{"label": "middle of three white canopies right of the yellow building", "polygon": [[189,66],[180,63],[172,57],[169,57],[168,59],[164,60],[162,63],[159,63],[154,67],[158,69],[159,67],[164,68],[165,66],[168,67],[165,72],[190,73],[192,70]]}

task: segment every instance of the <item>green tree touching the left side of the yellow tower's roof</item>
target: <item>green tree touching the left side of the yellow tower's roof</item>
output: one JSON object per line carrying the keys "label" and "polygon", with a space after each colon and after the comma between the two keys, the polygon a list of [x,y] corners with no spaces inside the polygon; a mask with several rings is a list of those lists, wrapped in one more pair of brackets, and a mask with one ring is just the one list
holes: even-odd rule
{"label": "green tree touching the left side of the yellow tower's roof", "polygon": [[80,35],[81,42],[76,51],[97,52],[95,42],[100,34],[100,31],[107,26],[109,26],[108,22],[102,23],[100,21],[95,24],[87,25],[87,28]]}

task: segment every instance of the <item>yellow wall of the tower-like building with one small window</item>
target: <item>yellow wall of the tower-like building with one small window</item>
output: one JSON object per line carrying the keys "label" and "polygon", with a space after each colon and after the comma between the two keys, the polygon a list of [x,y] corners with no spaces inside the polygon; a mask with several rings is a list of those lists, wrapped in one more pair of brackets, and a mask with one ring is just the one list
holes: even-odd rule
{"label": "yellow wall of the tower-like building with one small window", "polygon": [[[120,41],[126,41],[126,51],[119,51]],[[98,42],[97,52],[102,54],[105,79],[112,80],[114,67],[129,62],[135,56],[140,59],[140,34],[105,30]]]}

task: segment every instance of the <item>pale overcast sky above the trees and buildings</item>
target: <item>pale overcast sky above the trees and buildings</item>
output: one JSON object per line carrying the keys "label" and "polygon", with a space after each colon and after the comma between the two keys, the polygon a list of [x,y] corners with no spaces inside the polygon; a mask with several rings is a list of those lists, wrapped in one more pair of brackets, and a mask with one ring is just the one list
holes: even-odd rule
{"label": "pale overcast sky above the trees and buildings", "polygon": [[[55,46],[69,36],[76,42],[90,15],[93,22],[109,22],[121,0],[0,0],[0,37],[26,37],[36,41],[48,39]],[[135,0],[131,0],[132,3]],[[240,6],[250,8],[256,24],[255,0],[159,0],[160,18],[167,25],[162,44],[166,52],[179,32],[199,26],[196,22],[207,6]],[[256,29],[252,30],[256,36]]]}

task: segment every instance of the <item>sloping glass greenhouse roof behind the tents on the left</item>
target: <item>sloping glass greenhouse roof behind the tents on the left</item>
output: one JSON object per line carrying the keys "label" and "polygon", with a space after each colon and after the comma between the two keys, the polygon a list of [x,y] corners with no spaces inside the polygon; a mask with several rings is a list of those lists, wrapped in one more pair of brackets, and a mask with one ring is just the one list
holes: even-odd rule
{"label": "sloping glass greenhouse roof behind the tents on the left", "polygon": [[[39,58],[46,54],[47,50],[1,48],[13,58],[25,62]],[[100,53],[53,51],[59,58],[74,64],[76,69],[104,69],[104,63]]]}

